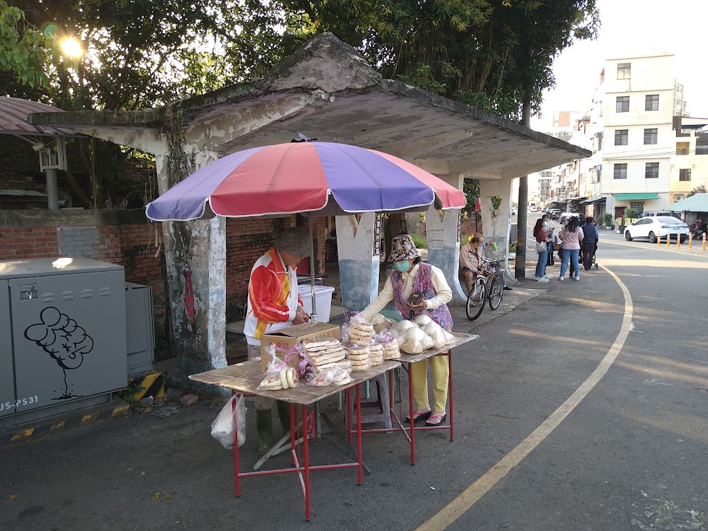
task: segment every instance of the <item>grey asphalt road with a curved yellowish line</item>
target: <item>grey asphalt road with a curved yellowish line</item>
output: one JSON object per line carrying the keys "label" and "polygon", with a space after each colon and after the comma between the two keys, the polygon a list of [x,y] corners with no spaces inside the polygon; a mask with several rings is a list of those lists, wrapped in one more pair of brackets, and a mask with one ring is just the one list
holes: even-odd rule
{"label": "grey asphalt road with a curved yellowish line", "polygon": [[[539,296],[455,353],[455,441],[417,437],[411,467],[401,435],[365,435],[373,474],[313,472],[310,523],[294,475],[234,497],[202,399],[0,450],[0,530],[708,530],[708,252],[602,232],[598,264],[523,280]],[[246,463],[253,425],[251,406]],[[319,440],[312,459],[343,457]]]}

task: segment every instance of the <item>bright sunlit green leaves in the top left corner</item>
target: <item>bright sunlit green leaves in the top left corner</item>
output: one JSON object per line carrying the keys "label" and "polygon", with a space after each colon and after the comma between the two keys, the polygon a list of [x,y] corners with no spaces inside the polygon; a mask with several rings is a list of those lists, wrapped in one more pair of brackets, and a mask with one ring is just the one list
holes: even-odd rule
{"label": "bright sunlit green leaves in the top left corner", "polygon": [[45,35],[27,23],[24,11],[0,0],[0,72],[11,72],[30,87],[44,86],[48,47]]}

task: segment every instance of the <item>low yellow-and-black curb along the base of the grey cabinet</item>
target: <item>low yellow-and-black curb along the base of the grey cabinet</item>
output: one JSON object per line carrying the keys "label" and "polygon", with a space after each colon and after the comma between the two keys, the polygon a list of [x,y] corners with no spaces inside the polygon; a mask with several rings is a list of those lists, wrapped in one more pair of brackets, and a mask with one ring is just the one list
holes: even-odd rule
{"label": "low yellow-and-black curb along the base of the grey cabinet", "polygon": [[97,406],[84,411],[74,411],[52,419],[45,419],[36,423],[14,426],[0,431],[0,448],[21,444],[30,440],[37,440],[59,431],[85,426],[105,418],[121,418],[130,416],[130,404],[114,399],[109,404]]}

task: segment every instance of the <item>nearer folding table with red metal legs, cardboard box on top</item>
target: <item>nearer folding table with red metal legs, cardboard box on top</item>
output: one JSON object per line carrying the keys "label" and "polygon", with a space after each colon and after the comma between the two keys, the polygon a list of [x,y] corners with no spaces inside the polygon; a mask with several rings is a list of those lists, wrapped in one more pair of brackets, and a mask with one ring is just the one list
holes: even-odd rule
{"label": "nearer folding table with red metal legs, cardboard box on top", "polygon": [[[350,463],[341,464],[323,464],[311,467],[309,464],[309,444],[308,444],[308,433],[310,428],[310,421],[307,413],[307,406],[315,404],[317,401],[338,393],[343,388],[341,386],[326,386],[326,387],[312,387],[304,381],[301,380],[298,387],[292,389],[282,389],[278,391],[259,391],[257,389],[258,384],[263,380],[263,373],[261,372],[261,362],[260,360],[249,360],[241,363],[236,363],[236,365],[229,365],[229,367],[223,367],[221,369],[210,370],[207,372],[202,372],[198,375],[191,375],[189,378],[193,379],[195,382],[202,382],[205,384],[219,385],[220,387],[226,387],[227,389],[232,389],[232,394],[251,394],[256,396],[266,396],[272,399],[278,399],[290,404],[290,453],[291,453],[291,464],[292,468],[287,469],[275,469],[275,470],[259,470],[258,472],[239,472],[239,445],[238,445],[238,432],[234,428],[234,476],[236,479],[236,496],[241,495],[241,478],[248,476],[263,476],[270,474],[285,474],[288,472],[297,472],[300,480],[300,486],[302,493],[305,498],[305,519],[309,522],[310,520],[310,484],[309,484],[309,472],[311,470],[326,470],[326,469],[339,469],[339,468],[353,468],[358,469],[358,484],[362,484],[363,474],[362,474],[362,452],[361,452],[361,399],[360,399],[360,389],[359,386],[362,382],[366,382],[369,379],[375,378],[378,375],[384,374],[389,370],[400,367],[401,364],[398,361],[387,360],[382,363],[382,365],[376,365],[370,367],[365,371],[355,371],[352,372],[351,377],[353,382],[351,382],[347,390],[355,388],[356,389],[356,408],[357,408],[357,426],[354,433],[357,435],[357,461]],[[299,406],[296,408],[295,406]],[[300,462],[299,443],[295,440],[295,413],[298,416],[302,416],[302,464]],[[236,419],[234,419],[234,422]],[[349,437],[351,438],[351,430]]]}

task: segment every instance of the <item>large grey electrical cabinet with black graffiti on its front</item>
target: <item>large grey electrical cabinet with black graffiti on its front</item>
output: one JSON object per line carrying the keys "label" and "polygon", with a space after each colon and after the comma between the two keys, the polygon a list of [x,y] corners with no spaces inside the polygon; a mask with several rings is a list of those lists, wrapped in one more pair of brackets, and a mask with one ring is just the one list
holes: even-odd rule
{"label": "large grey electrical cabinet with black graffiti on its front", "polygon": [[0,261],[0,417],[125,387],[124,278],[88,258]]}

